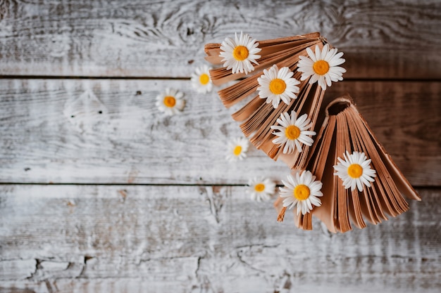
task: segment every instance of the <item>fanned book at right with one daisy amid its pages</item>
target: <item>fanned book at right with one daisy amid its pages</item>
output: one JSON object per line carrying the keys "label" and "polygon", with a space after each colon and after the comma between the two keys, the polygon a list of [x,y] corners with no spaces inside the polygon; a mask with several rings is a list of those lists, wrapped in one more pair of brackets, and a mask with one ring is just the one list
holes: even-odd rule
{"label": "fanned book at right with one daisy amid its pages", "polygon": [[[421,200],[356,110],[352,98],[335,99],[325,113],[306,165],[323,184],[321,204],[306,213],[294,212],[299,228],[311,230],[314,215],[331,232],[344,233],[352,229],[352,223],[365,228],[365,220],[377,224],[387,220],[387,215],[402,214],[409,209],[402,195]],[[285,216],[283,205],[282,198],[275,202],[279,221]]]}

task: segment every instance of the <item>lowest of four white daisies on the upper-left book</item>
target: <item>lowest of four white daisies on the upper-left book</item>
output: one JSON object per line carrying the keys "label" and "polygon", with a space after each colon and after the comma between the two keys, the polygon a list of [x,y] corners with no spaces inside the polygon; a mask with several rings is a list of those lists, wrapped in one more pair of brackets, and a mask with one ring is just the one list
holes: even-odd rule
{"label": "lowest of four white daisies on the upper-left book", "polygon": [[307,130],[312,126],[310,122],[311,119],[306,114],[297,118],[297,113],[294,111],[291,111],[291,116],[287,112],[283,112],[277,119],[277,123],[280,125],[271,126],[271,129],[278,130],[278,132],[273,132],[275,136],[278,136],[273,139],[273,143],[280,146],[285,145],[283,147],[284,154],[294,152],[296,147],[298,152],[302,152],[301,143],[311,146],[313,139],[309,136],[316,135],[316,131]]}

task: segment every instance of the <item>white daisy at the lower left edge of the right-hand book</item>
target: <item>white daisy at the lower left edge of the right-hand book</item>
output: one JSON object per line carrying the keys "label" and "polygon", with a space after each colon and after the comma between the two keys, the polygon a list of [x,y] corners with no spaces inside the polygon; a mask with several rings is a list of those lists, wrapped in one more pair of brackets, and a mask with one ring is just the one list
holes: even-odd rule
{"label": "white daisy at the lower left edge of the right-hand book", "polygon": [[283,207],[292,209],[297,204],[297,214],[302,211],[302,214],[309,213],[313,209],[312,205],[316,207],[321,206],[321,200],[318,197],[323,196],[321,193],[322,183],[316,181],[316,176],[313,176],[310,171],[296,171],[294,176],[291,174],[287,176],[287,181],[282,183],[284,187],[280,187],[280,197],[284,197]]}

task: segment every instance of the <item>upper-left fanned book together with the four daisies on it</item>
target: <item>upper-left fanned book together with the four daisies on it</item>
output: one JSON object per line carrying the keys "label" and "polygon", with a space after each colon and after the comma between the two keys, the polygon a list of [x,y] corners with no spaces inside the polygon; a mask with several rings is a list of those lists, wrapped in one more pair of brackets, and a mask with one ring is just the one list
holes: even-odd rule
{"label": "upper-left fanned book together with the four daisies on it", "polygon": [[218,92],[229,108],[249,98],[232,118],[251,143],[290,168],[303,167],[316,134],[323,95],[342,80],[343,53],[316,33],[256,41],[248,34],[206,44],[213,84],[238,80]]}

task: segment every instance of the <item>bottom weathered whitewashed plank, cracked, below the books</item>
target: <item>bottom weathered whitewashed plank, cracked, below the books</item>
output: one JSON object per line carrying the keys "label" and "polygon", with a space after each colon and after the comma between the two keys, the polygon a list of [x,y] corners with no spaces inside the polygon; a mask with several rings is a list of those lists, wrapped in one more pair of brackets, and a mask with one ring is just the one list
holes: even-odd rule
{"label": "bottom weathered whitewashed plank, cracked, below the books", "polygon": [[[441,286],[439,188],[419,189],[422,202],[395,219],[342,235],[315,219],[312,231],[295,228],[290,216],[278,223],[272,203],[251,202],[242,186],[0,190],[0,292],[437,292]],[[3,262],[19,260],[36,266],[13,277],[1,271]]]}

